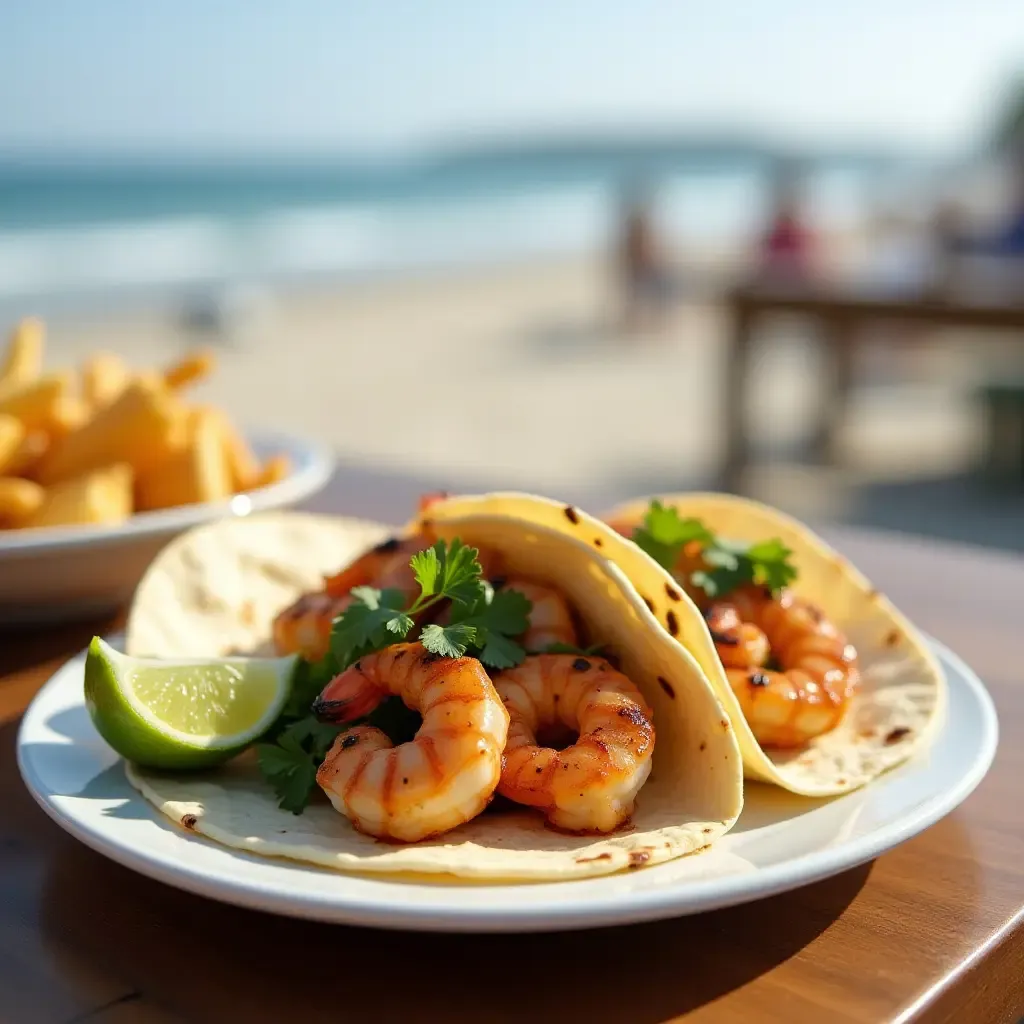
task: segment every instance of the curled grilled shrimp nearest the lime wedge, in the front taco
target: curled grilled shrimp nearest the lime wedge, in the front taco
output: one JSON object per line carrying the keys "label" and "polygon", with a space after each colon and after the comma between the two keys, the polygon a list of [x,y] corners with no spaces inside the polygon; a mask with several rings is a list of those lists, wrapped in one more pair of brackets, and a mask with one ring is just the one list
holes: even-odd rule
{"label": "curled grilled shrimp nearest the lime wedge, in the front taco", "polygon": [[418,643],[360,658],[328,683],[313,713],[351,721],[390,694],[423,716],[415,738],[392,746],[380,729],[355,726],[335,739],[316,782],[359,831],[415,843],[469,821],[490,802],[509,715],[476,658],[441,658]]}

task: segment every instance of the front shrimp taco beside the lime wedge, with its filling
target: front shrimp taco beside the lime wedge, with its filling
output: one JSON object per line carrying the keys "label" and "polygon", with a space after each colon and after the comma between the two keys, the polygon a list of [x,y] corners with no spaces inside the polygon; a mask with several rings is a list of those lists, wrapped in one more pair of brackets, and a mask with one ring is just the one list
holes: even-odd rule
{"label": "front shrimp taco beside the lime wedge, with its filling", "polygon": [[[201,771],[129,764],[227,846],[367,872],[603,874],[735,822],[740,750],[689,652],[544,499],[441,499],[393,536],[266,513],[173,541],[130,611],[132,656],[295,657],[281,716]],[[599,547],[599,546],[598,546]]]}

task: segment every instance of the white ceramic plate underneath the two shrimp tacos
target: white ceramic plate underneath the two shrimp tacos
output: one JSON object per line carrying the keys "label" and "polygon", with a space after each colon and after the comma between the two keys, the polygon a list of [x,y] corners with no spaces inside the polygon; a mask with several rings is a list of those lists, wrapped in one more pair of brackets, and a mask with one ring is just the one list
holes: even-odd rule
{"label": "white ceramic plate underneath the two shrimp tacos", "polygon": [[930,750],[867,787],[807,800],[749,785],[735,828],[710,851],[598,879],[524,885],[395,882],[251,856],[172,825],[129,785],[82,703],[83,655],[39,691],[18,765],[61,828],[113,860],[213,899],[298,918],[423,931],[546,931],[681,916],[836,874],[956,807],[992,762],[997,723],[980,680],[937,643],[949,686]]}

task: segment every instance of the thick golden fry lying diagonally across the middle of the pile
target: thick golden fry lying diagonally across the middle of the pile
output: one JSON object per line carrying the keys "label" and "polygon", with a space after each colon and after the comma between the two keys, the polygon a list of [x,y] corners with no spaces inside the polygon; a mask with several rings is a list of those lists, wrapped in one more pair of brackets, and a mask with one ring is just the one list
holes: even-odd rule
{"label": "thick golden fry lying diagonally across the middle of the pile", "polygon": [[119,462],[141,475],[184,445],[187,421],[187,410],[177,398],[136,380],[84,427],[57,441],[34,475],[50,484]]}

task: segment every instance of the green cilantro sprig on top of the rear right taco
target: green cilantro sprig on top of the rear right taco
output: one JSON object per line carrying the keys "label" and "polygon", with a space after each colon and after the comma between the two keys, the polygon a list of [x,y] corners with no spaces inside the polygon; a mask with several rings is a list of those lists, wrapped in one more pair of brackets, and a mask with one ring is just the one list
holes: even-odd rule
{"label": "green cilantro sprig on top of the rear right taco", "polygon": [[664,568],[674,572],[683,549],[698,546],[701,565],[680,582],[718,599],[739,587],[766,587],[773,594],[797,578],[791,551],[778,538],[755,543],[719,537],[699,519],[680,516],[676,509],[652,501],[633,541]]}

